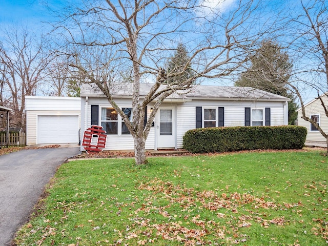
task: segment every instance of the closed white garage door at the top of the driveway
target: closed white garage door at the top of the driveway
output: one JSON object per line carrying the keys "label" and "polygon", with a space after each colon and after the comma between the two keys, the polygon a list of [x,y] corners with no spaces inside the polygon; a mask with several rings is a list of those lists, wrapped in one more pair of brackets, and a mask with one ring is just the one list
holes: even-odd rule
{"label": "closed white garage door at the top of the driveway", "polygon": [[78,142],[77,115],[39,115],[38,144],[69,144]]}

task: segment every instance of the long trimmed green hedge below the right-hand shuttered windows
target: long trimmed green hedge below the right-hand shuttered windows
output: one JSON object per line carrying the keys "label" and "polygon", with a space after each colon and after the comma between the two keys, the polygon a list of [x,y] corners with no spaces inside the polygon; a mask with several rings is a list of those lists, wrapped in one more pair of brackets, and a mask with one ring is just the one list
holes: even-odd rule
{"label": "long trimmed green hedge below the right-hand shuttered windows", "polygon": [[183,149],[192,153],[302,149],[306,134],[300,126],[198,128],[185,133]]}

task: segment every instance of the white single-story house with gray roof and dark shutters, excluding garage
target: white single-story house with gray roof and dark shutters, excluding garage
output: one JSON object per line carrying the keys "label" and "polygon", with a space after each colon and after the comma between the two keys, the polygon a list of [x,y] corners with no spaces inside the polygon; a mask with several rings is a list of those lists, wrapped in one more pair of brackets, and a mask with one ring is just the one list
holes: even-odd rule
{"label": "white single-story house with gray roof and dark shutters, excluding garage", "polygon": [[[152,84],[140,84],[140,98]],[[160,106],[146,141],[146,149],[182,148],[190,129],[228,126],[288,125],[289,98],[250,87],[195,86],[188,94],[172,94]],[[112,91],[116,104],[132,119],[131,88]],[[91,125],[107,132],[105,150],[132,150],[133,138],[124,121],[95,86],[85,84],[81,97],[81,136]],[[147,115],[153,104],[148,105]],[[83,150],[83,146],[81,146]]]}

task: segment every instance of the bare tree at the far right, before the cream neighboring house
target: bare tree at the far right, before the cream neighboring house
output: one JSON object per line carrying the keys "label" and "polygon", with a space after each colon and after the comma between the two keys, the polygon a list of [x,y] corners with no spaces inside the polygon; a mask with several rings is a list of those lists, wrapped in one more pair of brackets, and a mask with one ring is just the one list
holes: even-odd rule
{"label": "bare tree at the far right, before the cream neighboring house", "polygon": [[307,94],[304,90],[316,90],[317,99],[328,117],[328,3],[324,0],[301,1],[300,7],[294,10],[298,15],[291,19],[296,37],[290,49],[297,55],[298,63],[294,83],[289,84],[299,98],[302,118],[313,124],[326,139],[328,151],[328,132],[306,112],[303,100]]}

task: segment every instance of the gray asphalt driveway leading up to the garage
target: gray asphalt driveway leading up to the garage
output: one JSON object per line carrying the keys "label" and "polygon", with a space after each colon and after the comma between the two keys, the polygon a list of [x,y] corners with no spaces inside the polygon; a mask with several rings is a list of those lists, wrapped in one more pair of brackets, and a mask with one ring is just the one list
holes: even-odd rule
{"label": "gray asphalt driveway leading up to the garage", "polygon": [[31,149],[0,156],[0,246],[9,245],[57,167],[79,148]]}

